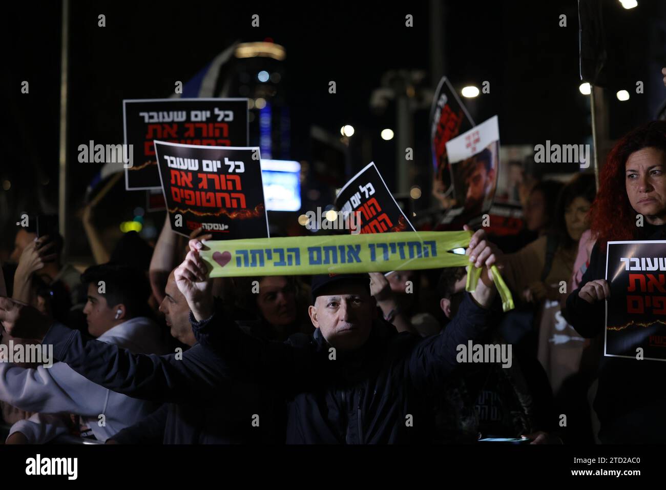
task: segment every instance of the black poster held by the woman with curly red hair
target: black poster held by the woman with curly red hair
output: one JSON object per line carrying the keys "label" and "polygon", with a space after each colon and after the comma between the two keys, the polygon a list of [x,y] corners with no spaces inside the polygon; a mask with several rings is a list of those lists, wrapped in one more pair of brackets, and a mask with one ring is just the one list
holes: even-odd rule
{"label": "black poster held by the woman with curly red hair", "polygon": [[607,246],[604,355],[666,361],[666,241]]}

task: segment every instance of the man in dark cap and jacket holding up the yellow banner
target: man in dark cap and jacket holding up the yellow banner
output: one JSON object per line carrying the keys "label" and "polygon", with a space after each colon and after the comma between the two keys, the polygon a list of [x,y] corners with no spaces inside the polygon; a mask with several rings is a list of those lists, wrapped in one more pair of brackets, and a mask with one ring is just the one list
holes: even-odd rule
{"label": "man in dark cap and jacket holding up the yellow banner", "polygon": [[[312,305],[308,313],[316,327],[315,333],[312,336],[292,335],[284,343],[260,341],[246,335],[234,321],[224,316],[222,305],[215,304],[212,297],[210,276],[221,275],[224,265],[233,262],[231,258],[242,255],[238,254],[239,250],[252,250],[245,248],[250,247],[250,242],[256,245],[254,250],[264,246],[263,243],[210,243],[212,246],[207,247],[201,241],[191,240],[190,252],[175,271],[178,289],[190,305],[194,335],[200,345],[218,359],[222,371],[235,379],[270,385],[284,395],[288,404],[287,443],[428,440],[428,431],[432,427],[426,402],[429,393],[438,390],[457,367],[457,346],[478,338],[490,326],[491,307],[496,297],[494,281],[499,277],[491,271],[496,261],[492,246],[483,241],[480,233],[474,237],[475,247],[468,248],[470,257],[453,254],[448,257],[444,255],[447,247],[469,243],[468,232],[443,233],[439,240],[435,234],[423,233],[423,243],[433,239],[434,245],[428,257],[418,257],[415,253],[410,267],[419,267],[419,259],[434,257],[440,257],[446,265],[448,261],[473,261],[483,266],[481,280],[473,288],[473,293],[466,293],[458,314],[442,335],[425,339],[408,333],[396,335],[392,325],[378,319],[376,300],[370,295],[368,274],[358,273],[359,270],[399,268],[396,265],[400,266],[400,263],[382,264],[376,260],[376,254],[372,256],[369,245],[388,243],[390,250],[390,243],[396,243],[386,235],[393,234],[345,237],[344,243],[335,245],[344,245],[345,249],[363,244],[368,247],[361,246],[356,254],[358,260],[354,261],[357,268],[354,272],[357,273],[348,273],[346,267],[341,267],[348,261],[340,261],[338,254],[340,268],[336,270],[342,270],[342,273],[314,276]],[[410,233],[396,235],[400,235],[403,241],[410,241],[407,237]],[[456,236],[447,241],[444,235]],[[378,238],[383,241],[377,241]],[[276,243],[279,240],[271,241],[273,251],[284,245]],[[211,269],[210,258],[220,252],[220,245],[225,252],[231,255],[233,251],[234,254],[222,261],[224,265],[216,261],[221,269]],[[292,248],[299,252],[307,250],[310,255],[311,250],[316,250],[313,247],[318,246],[305,241]],[[332,257],[332,251],[329,253]],[[305,265],[312,267],[312,257],[308,259]],[[293,260],[295,262],[295,258]],[[335,265],[332,259],[329,262]],[[383,262],[390,262],[390,259],[387,261],[385,256]],[[251,267],[244,265],[242,259],[232,263],[233,266],[238,270]],[[320,270],[316,269],[316,272]]]}

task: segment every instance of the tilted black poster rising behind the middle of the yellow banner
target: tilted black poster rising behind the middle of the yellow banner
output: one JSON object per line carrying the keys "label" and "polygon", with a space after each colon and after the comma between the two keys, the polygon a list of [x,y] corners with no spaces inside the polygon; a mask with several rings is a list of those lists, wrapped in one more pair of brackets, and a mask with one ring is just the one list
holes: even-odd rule
{"label": "tilted black poster rising behind the middle of the yellow banner", "polygon": [[340,189],[335,207],[342,211],[346,222],[350,213],[357,213],[360,233],[416,231],[386,187],[374,162],[368,163]]}

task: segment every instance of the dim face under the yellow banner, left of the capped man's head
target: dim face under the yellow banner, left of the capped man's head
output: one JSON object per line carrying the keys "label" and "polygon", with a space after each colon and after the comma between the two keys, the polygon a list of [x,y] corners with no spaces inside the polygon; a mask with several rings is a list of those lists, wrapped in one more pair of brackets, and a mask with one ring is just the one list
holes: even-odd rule
{"label": "dim face under the yellow banner, left of the capped man's head", "polygon": [[296,291],[284,276],[264,277],[259,283],[256,304],[270,325],[290,325],[296,321]]}

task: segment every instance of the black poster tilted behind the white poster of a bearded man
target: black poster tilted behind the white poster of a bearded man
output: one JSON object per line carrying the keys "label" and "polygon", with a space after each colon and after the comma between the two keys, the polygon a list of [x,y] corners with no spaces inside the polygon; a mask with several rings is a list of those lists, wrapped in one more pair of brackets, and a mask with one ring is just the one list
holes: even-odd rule
{"label": "black poster tilted behind the white poster of a bearded man", "polygon": [[430,110],[430,149],[434,167],[434,195],[448,208],[454,186],[451,181],[446,143],[474,127],[472,116],[458,98],[447,77],[442,77]]}

